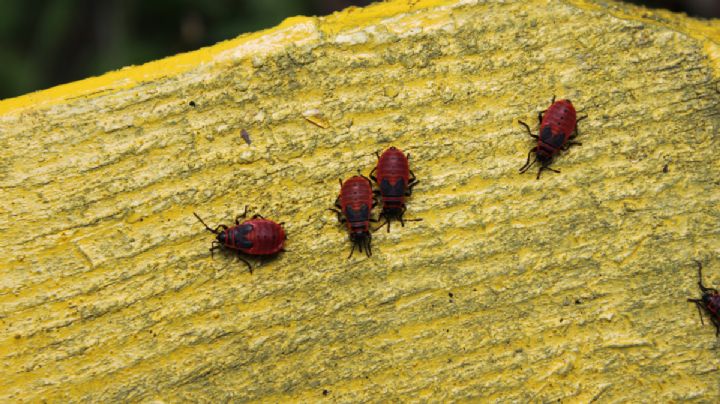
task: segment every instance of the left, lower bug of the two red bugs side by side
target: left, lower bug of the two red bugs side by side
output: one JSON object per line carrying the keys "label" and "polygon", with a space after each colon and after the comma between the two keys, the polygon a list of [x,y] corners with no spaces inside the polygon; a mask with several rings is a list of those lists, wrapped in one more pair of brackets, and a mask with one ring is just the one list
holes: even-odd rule
{"label": "left, lower bug of the two red bugs side by side", "polygon": [[364,249],[368,257],[372,255],[369,222],[377,222],[370,217],[370,211],[376,204],[368,178],[356,175],[344,183],[340,180],[340,195],[335,200],[337,209],[330,210],[337,213],[340,223],[347,224],[350,240],[353,242],[348,258],[352,257],[355,247],[360,251]]}

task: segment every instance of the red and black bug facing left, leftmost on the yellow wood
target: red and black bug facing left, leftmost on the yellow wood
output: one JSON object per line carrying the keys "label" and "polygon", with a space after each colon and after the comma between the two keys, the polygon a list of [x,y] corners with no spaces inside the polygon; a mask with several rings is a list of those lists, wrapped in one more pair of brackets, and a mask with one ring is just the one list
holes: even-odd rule
{"label": "red and black bug facing left, leftmost on the yellow wood", "polygon": [[[209,232],[217,235],[210,247],[210,254],[223,248],[255,257],[271,256],[285,251],[287,235],[282,227],[283,223],[275,223],[260,215],[255,215],[250,220],[240,223],[240,219],[247,215],[247,206],[245,206],[243,214],[235,218],[235,226],[228,227],[221,224],[214,230],[205,224],[197,213],[193,212],[193,215]],[[238,256],[238,258],[248,266],[252,273],[252,265],[242,256]]]}

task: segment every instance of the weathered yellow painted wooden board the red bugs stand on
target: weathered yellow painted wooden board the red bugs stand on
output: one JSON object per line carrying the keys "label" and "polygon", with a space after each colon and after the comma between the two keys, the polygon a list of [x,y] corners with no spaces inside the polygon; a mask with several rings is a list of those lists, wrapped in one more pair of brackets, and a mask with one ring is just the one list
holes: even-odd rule
{"label": "weathered yellow painted wooden board the red bugs stand on", "polygon": [[[719,33],[394,1],[0,102],[0,400],[718,401]],[[553,95],[589,118],[536,181]],[[424,220],[348,261],[337,179],[390,145]],[[289,236],[254,275],[192,216],[245,204]]]}

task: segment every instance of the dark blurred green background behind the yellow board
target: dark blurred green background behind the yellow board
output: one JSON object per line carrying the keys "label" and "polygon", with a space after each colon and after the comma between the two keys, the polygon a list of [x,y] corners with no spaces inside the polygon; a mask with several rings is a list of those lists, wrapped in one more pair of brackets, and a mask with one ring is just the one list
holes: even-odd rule
{"label": "dark blurred green background behind the yellow board", "polygon": [[[628,0],[719,17],[720,0]],[[371,0],[0,0],[0,99]]]}

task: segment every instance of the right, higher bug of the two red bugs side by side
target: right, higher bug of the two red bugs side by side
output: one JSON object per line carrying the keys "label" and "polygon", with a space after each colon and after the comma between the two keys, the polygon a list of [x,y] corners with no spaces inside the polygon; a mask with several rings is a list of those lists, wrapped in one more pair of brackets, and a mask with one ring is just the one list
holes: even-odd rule
{"label": "right, higher bug of the two red bugs side by side", "polygon": [[[379,193],[383,204],[380,216],[385,218],[388,232],[390,231],[390,221],[392,219],[399,220],[400,224],[405,226],[403,220],[403,215],[407,210],[405,197],[410,196],[412,187],[420,182],[410,170],[409,158],[409,154],[406,157],[402,150],[391,146],[383,154],[378,155],[377,166],[370,172],[370,178],[380,187]],[[377,177],[373,173],[376,173]],[[412,221],[419,220],[422,219],[412,219]],[[382,228],[383,225],[380,225],[379,228]]]}

